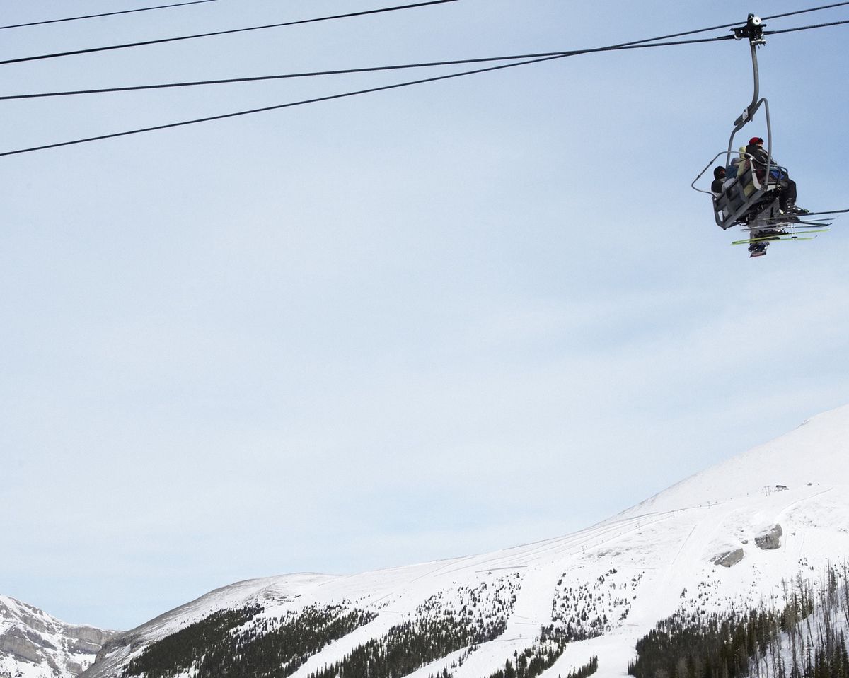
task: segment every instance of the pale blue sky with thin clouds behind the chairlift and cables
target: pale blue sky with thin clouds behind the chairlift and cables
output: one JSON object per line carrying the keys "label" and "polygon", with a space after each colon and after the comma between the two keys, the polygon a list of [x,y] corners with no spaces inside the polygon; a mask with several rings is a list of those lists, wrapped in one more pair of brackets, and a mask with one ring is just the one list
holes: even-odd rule
{"label": "pale blue sky with thin clouds behind the chairlift and cables", "polygon": [[[7,4],[3,24],[145,3]],[[391,4],[218,0],[2,31],[0,59]],[[813,4],[458,0],[6,65],[0,92],[589,48]],[[812,209],[849,207],[846,35],[760,53]],[[0,151],[419,75],[3,101]],[[0,159],[0,591],[129,628],[254,576],[494,550],[846,404],[849,219],[750,261],[689,188],[750,98],[728,41]]]}

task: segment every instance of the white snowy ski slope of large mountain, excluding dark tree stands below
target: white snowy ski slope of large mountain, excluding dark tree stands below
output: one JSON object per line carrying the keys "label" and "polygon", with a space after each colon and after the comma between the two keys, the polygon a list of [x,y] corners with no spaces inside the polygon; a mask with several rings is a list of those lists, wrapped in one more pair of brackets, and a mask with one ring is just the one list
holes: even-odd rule
{"label": "white snowy ski slope of large mountain, excluding dark tree stands below", "polygon": [[[340,603],[376,616],[295,672],[344,658],[419,607],[474,609],[503,632],[413,675],[448,669],[486,678],[531,647],[543,625],[571,625],[571,642],[544,675],[555,678],[599,657],[601,676],[626,675],[634,643],[678,609],[724,610],[779,602],[783,580],[818,573],[849,554],[849,406],[813,417],[767,445],[697,473],[610,520],[572,535],[467,558],[332,577],[297,574],[212,591],[127,632],[87,678],[120,675],[151,641],[220,609],[260,602],[279,618],[313,604]],[[725,563],[717,564],[717,561]]]}

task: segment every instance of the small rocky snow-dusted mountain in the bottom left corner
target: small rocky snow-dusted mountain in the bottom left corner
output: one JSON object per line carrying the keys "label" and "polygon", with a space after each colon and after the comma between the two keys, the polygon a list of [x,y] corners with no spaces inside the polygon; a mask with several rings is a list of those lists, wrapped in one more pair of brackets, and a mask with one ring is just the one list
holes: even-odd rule
{"label": "small rocky snow-dusted mountain in the bottom left corner", "polygon": [[71,625],[0,596],[0,678],[47,678],[82,673],[115,631]]}

